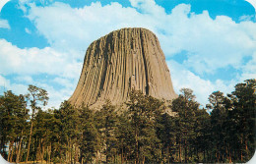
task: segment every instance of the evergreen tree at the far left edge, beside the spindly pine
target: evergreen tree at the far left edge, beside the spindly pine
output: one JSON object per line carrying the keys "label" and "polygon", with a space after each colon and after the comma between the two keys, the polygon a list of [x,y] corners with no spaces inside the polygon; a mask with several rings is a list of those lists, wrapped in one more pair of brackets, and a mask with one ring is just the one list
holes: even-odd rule
{"label": "evergreen tree at the far left edge, beside the spindly pine", "polygon": [[[0,97],[0,140],[1,154],[7,161],[19,162],[21,146],[23,138],[26,134],[27,120],[29,118],[29,110],[26,108],[26,101],[23,95],[15,95],[11,90],[4,93]],[[6,145],[8,146],[8,156]],[[14,146],[16,144],[17,146]]]}

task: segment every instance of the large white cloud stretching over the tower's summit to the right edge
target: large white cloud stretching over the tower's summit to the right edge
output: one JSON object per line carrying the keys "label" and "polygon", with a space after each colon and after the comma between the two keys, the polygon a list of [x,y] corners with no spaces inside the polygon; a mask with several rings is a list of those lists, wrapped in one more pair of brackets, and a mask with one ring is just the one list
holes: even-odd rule
{"label": "large white cloud stretching over the tower's summit to the right edge", "polygon": [[[113,29],[146,27],[157,33],[167,57],[188,52],[184,65],[197,74],[226,66],[240,68],[242,59],[256,52],[255,23],[235,23],[225,16],[213,20],[207,11],[196,15],[186,4],[166,14],[154,0],[130,2],[132,8],[118,3],[102,6],[99,2],[79,9],[63,3],[44,8],[32,4],[28,18],[53,47],[65,51],[85,51],[92,41]],[[84,55],[76,54],[78,58]]]}

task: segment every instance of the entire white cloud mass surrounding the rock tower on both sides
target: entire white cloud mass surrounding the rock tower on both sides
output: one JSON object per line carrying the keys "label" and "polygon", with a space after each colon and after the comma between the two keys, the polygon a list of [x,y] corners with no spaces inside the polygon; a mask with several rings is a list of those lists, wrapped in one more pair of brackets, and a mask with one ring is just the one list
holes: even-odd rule
{"label": "entire white cloud mass surrounding the rock tower on both sides", "polygon": [[[226,16],[213,19],[207,11],[191,12],[191,6],[180,4],[164,11],[154,0],[130,0],[131,7],[119,3],[102,6],[99,2],[82,8],[72,8],[56,2],[48,6],[23,6],[38,33],[49,42],[43,49],[20,49],[0,40],[0,75],[19,74],[56,76],[52,83],[63,85],[57,91],[45,84],[57,103],[74,90],[81,73],[82,61],[89,44],[98,37],[121,27],[146,27],[155,32],[167,59],[186,52],[186,60],[168,61],[173,85],[195,90],[198,101],[206,103],[215,90],[230,92],[236,82],[255,77],[256,24],[247,17],[236,23]],[[169,13],[169,14],[167,14]],[[244,62],[244,58],[249,59]],[[240,70],[236,80],[211,82],[203,74],[231,66]],[[29,81],[25,79],[24,81]]]}

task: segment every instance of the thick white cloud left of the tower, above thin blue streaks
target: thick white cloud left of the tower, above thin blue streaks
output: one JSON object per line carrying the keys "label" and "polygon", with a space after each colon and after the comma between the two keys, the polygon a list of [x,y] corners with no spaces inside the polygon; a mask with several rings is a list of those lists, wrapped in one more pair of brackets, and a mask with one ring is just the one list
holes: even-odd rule
{"label": "thick white cloud left of the tower, above thin blue streaks", "polygon": [[82,63],[50,47],[20,49],[0,39],[0,75],[48,74],[77,80],[81,69]]}

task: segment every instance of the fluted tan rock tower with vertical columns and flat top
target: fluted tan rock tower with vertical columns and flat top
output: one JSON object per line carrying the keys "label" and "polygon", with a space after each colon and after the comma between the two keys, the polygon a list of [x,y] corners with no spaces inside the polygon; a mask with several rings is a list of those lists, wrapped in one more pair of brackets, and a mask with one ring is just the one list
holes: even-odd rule
{"label": "fluted tan rock tower with vertical columns and flat top", "polygon": [[159,40],[145,28],[122,28],[94,41],[69,101],[77,107],[98,107],[106,99],[120,105],[132,88],[160,99],[176,97]]}

